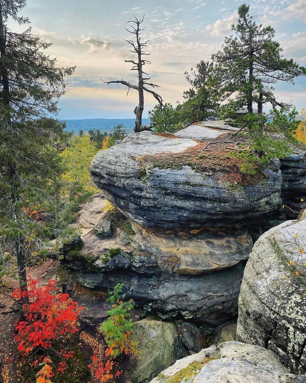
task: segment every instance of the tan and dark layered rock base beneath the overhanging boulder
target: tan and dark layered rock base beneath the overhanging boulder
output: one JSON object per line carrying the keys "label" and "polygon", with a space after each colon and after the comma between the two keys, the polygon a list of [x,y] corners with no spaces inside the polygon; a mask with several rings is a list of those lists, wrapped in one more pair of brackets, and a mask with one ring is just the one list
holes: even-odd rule
{"label": "tan and dark layered rock base beneath the overhanging boulder", "polygon": [[[252,249],[245,230],[153,230],[134,223],[134,234],[116,229],[109,239],[94,231],[97,195],[80,210],[86,216],[83,246],[65,250],[62,263],[90,288],[124,283],[125,298],[162,318],[190,319],[216,326],[237,314],[243,264]],[[108,213],[103,211],[99,219]],[[91,224],[90,224],[91,222]],[[78,226],[79,222],[75,223]]]}

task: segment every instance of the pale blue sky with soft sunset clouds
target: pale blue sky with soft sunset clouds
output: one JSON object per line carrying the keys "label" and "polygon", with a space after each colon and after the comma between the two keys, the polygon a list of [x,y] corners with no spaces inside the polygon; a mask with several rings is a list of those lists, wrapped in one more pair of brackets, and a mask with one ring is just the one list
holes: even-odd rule
{"label": "pale blue sky with soft sunset clouds", "polygon": [[[243,0],[28,0],[22,14],[31,21],[32,33],[53,45],[46,53],[57,57],[58,65],[74,66],[67,78],[66,94],[60,99],[60,119],[134,118],[138,93],[127,96],[124,85],[106,85],[101,79],[124,79],[137,83],[135,71],[124,59],[133,59],[124,39],[127,21],[145,15],[143,39],[149,39],[151,81],[160,85],[158,93],[176,105],[188,88],[184,72],[200,60],[208,60],[220,49],[237,9]],[[263,25],[272,25],[286,58],[306,66],[306,0],[252,0],[250,13]],[[11,25],[12,30],[20,26]],[[24,27],[23,27],[24,28]],[[306,78],[295,85],[278,84],[281,101],[293,101],[297,109],[306,107]],[[155,105],[145,95],[143,117]]]}

